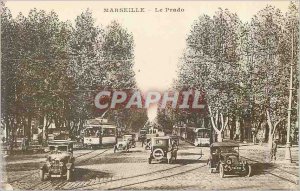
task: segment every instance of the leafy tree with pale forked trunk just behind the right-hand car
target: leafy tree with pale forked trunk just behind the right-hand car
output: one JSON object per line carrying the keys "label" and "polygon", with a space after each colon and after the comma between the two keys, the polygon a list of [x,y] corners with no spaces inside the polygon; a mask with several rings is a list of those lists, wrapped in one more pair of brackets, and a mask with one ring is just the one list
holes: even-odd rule
{"label": "leafy tree with pale forked trunk just behind the right-hand car", "polygon": [[219,9],[213,18],[199,17],[187,38],[187,50],[179,69],[178,83],[182,87],[205,92],[218,141],[222,141],[222,132],[238,99],[240,30],[241,21],[228,10]]}

